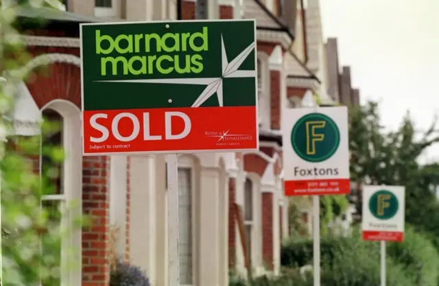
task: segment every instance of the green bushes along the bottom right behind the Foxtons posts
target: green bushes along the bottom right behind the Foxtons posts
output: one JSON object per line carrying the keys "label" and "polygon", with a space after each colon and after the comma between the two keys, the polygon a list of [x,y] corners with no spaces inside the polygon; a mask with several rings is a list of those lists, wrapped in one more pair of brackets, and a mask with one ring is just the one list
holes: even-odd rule
{"label": "green bushes along the bottom right behind the Foxtons posts", "polygon": [[[388,285],[435,285],[439,277],[439,254],[434,245],[413,228],[407,228],[403,243],[388,244]],[[379,243],[362,241],[359,231],[353,237],[324,237],[322,285],[379,285]],[[285,267],[312,265],[311,239],[285,243],[281,264]]]}

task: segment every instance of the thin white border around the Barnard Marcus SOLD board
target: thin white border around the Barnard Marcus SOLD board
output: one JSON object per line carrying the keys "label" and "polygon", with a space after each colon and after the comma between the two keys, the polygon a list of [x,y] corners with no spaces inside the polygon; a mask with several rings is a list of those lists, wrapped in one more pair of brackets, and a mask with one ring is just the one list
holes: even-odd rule
{"label": "thin white border around the Barnard Marcus SOLD board", "polygon": [[[187,151],[147,151],[147,152],[115,152],[115,153],[93,153],[89,154],[85,152],[84,145],[84,72],[83,72],[83,53],[82,53],[82,26],[96,26],[96,25],[127,25],[127,24],[154,24],[154,23],[200,23],[200,22],[253,22],[254,29],[254,71],[258,73],[257,68],[257,27],[256,19],[206,19],[206,20],[179,20],[179,21],[169,21],[169,20],[158,20],[158,21],[129,21],[129,22],[104,22],[104,23],[80,23],[80,58],[81,58],[81,136],[82,136],[82,156],[103,156],[103,155],[145,155],[145,154],[170,154],[170,153],[217,153],[217,152],[245,152],[259,150],[259,100],[258,100],[258,81],[257,78],[254,80],[254,91],[255,91],[255,108],[256,108],[256,118],[254,122],[256,123],[256,147],[254,149],[230,149],[230,150],[187,150]],[[151,108],[153,109],[153,108]]]}

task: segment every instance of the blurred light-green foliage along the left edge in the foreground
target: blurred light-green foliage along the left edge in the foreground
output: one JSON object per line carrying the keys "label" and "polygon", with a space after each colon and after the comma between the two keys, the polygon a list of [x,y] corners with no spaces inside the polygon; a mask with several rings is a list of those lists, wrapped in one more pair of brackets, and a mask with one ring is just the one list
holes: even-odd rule
{"label": "blurred light-green foliage along the left edge in the foreground", "polygon": [[[71,230],[61,228],[60,216],[70,206],[41,199],[57,189],[54,182],[60,176],[58,165],[64,159],[64,151],[48,142],[40,148],[45,136],[56,132],[59,126],[45,121],[42,136],[8,136],[12,130],[8,115],[14,108],[16,87],[26,76],[12,70],[29,60],[12,23],[16,9],[26,4],[27,1],[18,1],[0,9],[0,71],[8,71],[4,73],[6,81],[0,82],[1,284],[59,286],[60,273],[64,271],[60,269],[61,239]],[[45,164],[38,172],[34,163],[40,155]]]}

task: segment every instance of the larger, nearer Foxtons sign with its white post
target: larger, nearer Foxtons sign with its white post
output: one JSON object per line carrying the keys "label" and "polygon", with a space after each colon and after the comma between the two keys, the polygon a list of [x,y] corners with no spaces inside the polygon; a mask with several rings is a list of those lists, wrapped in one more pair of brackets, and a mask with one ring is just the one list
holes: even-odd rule
{"label": "larger, nearer Foxtons sign with its white post", "polygon": [[313,196],[314,286],[320,286],[320,195],[350,192],[346,106],[283,110],[285,195]]}

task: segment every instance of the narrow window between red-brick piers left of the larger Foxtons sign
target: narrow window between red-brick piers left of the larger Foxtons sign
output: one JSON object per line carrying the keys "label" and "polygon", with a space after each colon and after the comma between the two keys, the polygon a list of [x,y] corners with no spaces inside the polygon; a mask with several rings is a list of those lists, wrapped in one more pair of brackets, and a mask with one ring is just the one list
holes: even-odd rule
{"label": "narrow window between red-brick piers left of the larger Foxtons sign", "polygon": [[248,261],[250,261],[250,269],[252,269],[252,228],[254,226],[253,219],[253,183],[250,179],[246,179],[244,184],[244,228],[246,232],[246,252]]}

